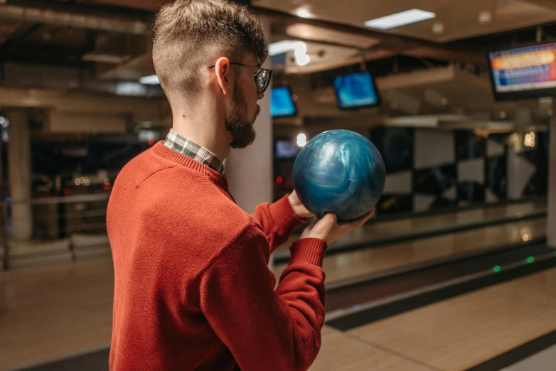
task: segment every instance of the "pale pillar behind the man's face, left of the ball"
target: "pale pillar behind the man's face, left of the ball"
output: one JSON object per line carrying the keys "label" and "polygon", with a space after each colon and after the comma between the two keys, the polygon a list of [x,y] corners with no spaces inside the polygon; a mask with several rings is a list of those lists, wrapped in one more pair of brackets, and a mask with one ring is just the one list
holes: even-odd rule
{"label": "pale pillar behind the man's face, left of the ball", "polygon": [[[270,20],[262,18],[267,37],[270,36]],[[270,67],[270,58],[263,68]],[[258,103],[261,107],[255,131],[255,143],[246,149],[232,149],[226,159],[226,176],[230,193],[237,205],[247,213],[254,213],[260,203],[272,202],[272,117],[270,117],[269,86],[264,98]],[[271,259],[272,263],[272,259]]]}

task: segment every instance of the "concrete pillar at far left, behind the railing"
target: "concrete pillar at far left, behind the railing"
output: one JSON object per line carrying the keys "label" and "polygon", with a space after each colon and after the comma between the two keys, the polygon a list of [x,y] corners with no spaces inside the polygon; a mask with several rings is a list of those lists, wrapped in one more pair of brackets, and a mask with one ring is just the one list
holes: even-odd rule
{"label": "concrete pillar at far left, behind the railing", "polygon": [[7,112],[9,119],[8,181],[14,241],[31,240],[31,129],[24,110]]}

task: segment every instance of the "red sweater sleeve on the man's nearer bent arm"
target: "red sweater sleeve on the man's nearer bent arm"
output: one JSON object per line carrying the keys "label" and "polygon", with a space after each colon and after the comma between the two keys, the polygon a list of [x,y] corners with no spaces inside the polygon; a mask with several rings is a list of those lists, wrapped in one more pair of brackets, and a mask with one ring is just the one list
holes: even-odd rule
{"label": "red sweater sleeve on the man's nearer bent arm", "polygon": [[291,249],[276,291],[267,238],[254,226],[201,277],[201,310],[242,371],[307,370],[319,353],[326,242],[305,239]]}

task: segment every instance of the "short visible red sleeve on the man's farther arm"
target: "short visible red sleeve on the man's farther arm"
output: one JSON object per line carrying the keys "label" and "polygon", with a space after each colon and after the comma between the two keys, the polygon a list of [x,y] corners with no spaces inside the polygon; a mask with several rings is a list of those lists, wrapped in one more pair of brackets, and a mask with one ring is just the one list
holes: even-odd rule
{"label": "short visible red sleeve on the man's farther arm", "polygon": [[267,236],[271,254],[288,240],[297,227],[306,222],[306,220],[295,215],[292,205],[289,203],[288,195],[280,198],[272,205],[269,203],[258,205],[255,208],[255,214],[251,216],[259,222],[264,235]]}

